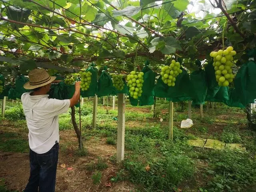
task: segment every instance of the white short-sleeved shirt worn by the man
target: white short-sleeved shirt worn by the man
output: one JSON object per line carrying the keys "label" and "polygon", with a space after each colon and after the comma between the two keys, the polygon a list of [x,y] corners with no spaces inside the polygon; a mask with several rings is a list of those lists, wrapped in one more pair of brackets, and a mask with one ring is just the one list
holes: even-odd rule
{"label": "white short-sleeved shirt worn by the man", "polygon": [[49,99],[48,95],[21,96],[23,110],[28,126],[30,149],[38,154],[48,152],[59,142],[58,115],[66,113],[70,100]]}

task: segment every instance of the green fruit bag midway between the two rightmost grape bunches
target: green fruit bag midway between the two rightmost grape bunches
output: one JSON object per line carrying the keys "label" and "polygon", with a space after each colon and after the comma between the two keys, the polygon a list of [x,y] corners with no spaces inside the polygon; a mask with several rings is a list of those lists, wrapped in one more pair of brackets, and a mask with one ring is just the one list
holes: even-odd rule
{"label": "green fruit bag midway between the two rightmost grape bunches", "polygon": [[193,104],[203,104],[207,93],[207,82],[204,70],[192,72],[190,80],[192,85],[191,90],[193,90],[190,96],[192,97]]}

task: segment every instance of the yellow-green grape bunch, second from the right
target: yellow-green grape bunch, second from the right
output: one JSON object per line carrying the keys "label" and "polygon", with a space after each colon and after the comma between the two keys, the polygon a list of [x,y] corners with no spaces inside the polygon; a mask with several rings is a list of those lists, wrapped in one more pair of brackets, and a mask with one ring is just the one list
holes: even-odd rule
{"label": "yellow-green grape bunch, second from the right", "polygon": [[180,73],[182,73],[182,70],[180,69],[180,63],[172,60],[170,66],[166,65],[162,67],[162,80],[168,86],[175,86],[176,77]]}

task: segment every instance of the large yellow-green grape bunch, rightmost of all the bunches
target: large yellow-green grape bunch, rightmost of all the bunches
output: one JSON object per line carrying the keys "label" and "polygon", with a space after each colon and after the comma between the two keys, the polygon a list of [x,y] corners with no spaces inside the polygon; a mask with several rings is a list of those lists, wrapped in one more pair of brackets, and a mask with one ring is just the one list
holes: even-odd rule
{"label": "large yellow-green grape bunch, rightmost of all the bunches", "polygon": [[225,50],[220,49],[218,52],[213,51],[210,53],[210,56],[213,57],[213,66],[219,86],[228,86],[234,79],[231,69],[234,55],[236,55],[236,51],[233,50],[232,46]]}

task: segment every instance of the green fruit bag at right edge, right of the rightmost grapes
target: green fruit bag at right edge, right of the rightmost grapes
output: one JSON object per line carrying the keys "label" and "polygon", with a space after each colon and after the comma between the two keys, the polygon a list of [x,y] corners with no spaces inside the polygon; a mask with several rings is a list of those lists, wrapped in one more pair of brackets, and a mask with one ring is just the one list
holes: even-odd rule
{"label": "green fruit bag at right edge, right of the rightmost grapes", "polygon": [[243,64],[234,78],[234,84],[240,102],[246,106],[256,99],[256,63],[252,60]]}

